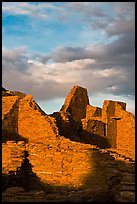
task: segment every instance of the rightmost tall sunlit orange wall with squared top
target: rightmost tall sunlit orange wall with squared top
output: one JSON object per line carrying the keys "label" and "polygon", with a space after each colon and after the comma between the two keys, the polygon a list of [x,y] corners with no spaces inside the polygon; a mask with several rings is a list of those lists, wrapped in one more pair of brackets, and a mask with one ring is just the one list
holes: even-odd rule
{"label": "rightmost tall sunlit orange wall with squared top", "polygon": [[135,156],[135,117],[126,111],[126,103],[105,100],[102,121],[106,123],[106,136],[110,145]]}

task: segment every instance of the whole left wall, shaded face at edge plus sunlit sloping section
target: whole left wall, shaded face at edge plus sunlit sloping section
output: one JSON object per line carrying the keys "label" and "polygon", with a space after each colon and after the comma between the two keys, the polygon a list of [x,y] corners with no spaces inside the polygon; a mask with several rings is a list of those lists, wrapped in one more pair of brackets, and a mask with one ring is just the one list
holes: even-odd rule
{"label": "whole left wall, shaded face at edge plus sunlit sloping section", "polygon": [[42,112],[31,95],[2,97],[2,130],[5,141],[18,140],[17,136],[35,142],[52,140],[59,134],[55,119]]}

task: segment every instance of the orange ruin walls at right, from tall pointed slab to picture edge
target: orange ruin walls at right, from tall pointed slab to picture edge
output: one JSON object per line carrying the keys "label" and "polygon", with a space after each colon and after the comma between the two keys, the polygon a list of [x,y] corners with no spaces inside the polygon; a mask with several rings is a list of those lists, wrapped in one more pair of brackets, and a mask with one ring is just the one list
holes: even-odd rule
{"label": "orange ruin walls at right, from tall pointed slab to picture edge", "polygon": [[61,111],[70,114],[77,122],[77,129],[84,131],[85,135],[91,135],[93,139],[96,136],[102,143],[106,139],[110,147],[135,158],[135,117],[126,111],[125,103],[105,100],[102,109],[94,107],[89,104],[86,89],[75,86]]}

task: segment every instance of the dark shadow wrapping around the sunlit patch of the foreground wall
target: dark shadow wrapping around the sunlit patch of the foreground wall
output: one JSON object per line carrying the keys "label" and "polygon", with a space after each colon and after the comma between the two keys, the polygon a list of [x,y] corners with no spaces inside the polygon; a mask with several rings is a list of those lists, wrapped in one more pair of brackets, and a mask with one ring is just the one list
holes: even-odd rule
{"label": "dark shadow wrapping around the sunlit patch of the foreground wall", "polygon": [[79,188],[41,182],[33,173],[32,165],[27,158],[28,152],[25,151],[24,161],[16,174],[11,172],[8,176],[2,175],[2,191],[4,192],[9,187],[20,186],[26,192],[43,190],[45,200],[46,196],[50,194],[50,198],[54,202],[60,201],[60,199],[65,202],[117,202],[116,198],[120,192],[119,184],[121,182],[121,174],[117,172],[117,166],[122,165],[124,168],[126,164],[122,161],[115,161],[115,166],[108,168],[109,162],[114,159],[111,155],[100,153],[97,149],[91,149],[89,152],[91,171],[83,178],[83,185]]}

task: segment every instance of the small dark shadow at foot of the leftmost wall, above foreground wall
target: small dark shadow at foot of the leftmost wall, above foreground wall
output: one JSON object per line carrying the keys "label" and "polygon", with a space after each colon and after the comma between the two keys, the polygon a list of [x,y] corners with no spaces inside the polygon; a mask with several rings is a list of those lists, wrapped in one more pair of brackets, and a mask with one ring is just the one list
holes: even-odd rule
{"label": "small dark shadow at foot of the leftmost wall, above foreground wall", "polygon": [[28,142],[28,139],[19,135],[16,132],[13,131],[8,131],[6,129],[2,129],[2,142],[7,142],[7,141],[24,141],[25,143]]}

